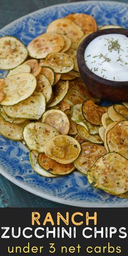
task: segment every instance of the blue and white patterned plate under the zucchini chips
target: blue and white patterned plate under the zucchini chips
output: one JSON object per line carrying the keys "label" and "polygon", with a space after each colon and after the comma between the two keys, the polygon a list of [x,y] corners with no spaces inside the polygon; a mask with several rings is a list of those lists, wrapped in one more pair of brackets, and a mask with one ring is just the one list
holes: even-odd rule
{"label": "blue and white patterned plate under the zucchini chips", "polygon": [[[118,24],[128,29],[128,5],[119,2],[87,1],[54,5],[24,16],[0,30],[0,36],[12,35],[26,46],[44,33],[56,18],[71,12],[92,15],[98,25]],[[0,75],[5,72],[0,71]],[[127,207],[128,199],[119,199],[94,189],[79,172],[58,178],[44,178],[32,169],[28,149],[20,142],[0,136],[0,172],[19,187],[46,199],[81,207]]]}

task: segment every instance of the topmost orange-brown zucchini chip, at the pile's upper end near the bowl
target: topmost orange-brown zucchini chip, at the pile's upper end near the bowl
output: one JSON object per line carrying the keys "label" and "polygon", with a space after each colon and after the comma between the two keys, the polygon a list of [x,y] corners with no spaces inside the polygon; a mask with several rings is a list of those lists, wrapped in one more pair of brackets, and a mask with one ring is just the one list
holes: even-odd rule
{"label": "topmost orange-brown zucchini chip, at the pile's upper end near the bowl", "polygon": [[84,34],[97,31],[97,23],[91,15],[75,13],[67,15],[66,18],[78,25]]}

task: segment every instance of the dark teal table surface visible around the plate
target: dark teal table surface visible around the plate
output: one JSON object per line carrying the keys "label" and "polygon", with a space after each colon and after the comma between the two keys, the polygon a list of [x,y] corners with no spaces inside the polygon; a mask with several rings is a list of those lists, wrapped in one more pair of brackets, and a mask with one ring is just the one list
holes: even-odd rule
{"label": "dark teal table surface visible around the plate", "polygon": [[[1,0],[0,8],[0,29],[11,21],[16,20],[32,11],[48,7],[53,4],[76,2],[75,0]],[[128,3],[128,0],[119,1]],[[11,4],[12,3],[12,4]],[[24,4],[25,3],[25,4]],[[63,204],[55,203],[39,196],[35,196],[17,185],[11,183],[0,175],[0,207],[66,207]]]}

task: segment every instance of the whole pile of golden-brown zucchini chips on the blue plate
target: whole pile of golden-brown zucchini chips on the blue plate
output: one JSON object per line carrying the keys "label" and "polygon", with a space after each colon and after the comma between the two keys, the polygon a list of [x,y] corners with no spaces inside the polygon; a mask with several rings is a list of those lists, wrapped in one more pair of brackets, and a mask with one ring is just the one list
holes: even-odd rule
{"label": "whole pile of golden-brown zucchini chips on the blue plate", "polygon": [[80,171],[95,188],[128,196],[128,103],[100,106],[82,81],[80,42],[97,30],[93,17],[71,14],[25,46],[0,39],[3,136],[21,140],[33,169],[45,177]]}

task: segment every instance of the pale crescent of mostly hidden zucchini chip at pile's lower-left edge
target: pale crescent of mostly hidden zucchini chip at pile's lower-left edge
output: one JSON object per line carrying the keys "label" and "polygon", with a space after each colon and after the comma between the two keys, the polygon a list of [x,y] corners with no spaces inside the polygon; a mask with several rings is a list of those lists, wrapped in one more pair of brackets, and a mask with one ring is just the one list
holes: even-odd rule
{"label": "pale crescent of mostly hidden zucchini chip at pile's lower-left edge", "polygon": [[48,178],[53,178],[56,177],[53,174],[50,174],[50,172],[44,170],[38,163],[37,157],[34,155],[34,153],[32,151],[29,152],[29,159],[30,159],[30,164],[31,167],[34,169],[34,171],[37,174],[40,174],[43,177],[48,177]]}

